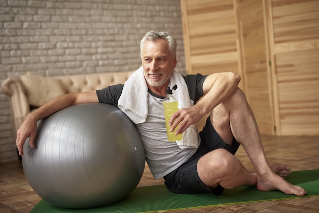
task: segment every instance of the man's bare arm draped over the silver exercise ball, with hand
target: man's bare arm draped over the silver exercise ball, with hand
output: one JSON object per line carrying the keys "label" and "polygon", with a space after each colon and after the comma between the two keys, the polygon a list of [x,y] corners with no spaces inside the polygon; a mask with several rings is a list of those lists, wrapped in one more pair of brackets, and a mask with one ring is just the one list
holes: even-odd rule
{"label": "man's bare arm draped over the silver exercise ball, with hand", "polygon": [[39,109],[30,113],[17,130],[16,145],[19,150],[19,154],[21,156],[23,155],[22,147],[28,137],[30,137],[30,146],[34,148],[34,138],[37,134],[37,122],[39,120],[74,104],[95,102],[99,101],[96,91],[93,90],[81,93],[70,93],[51,99],[43,104]]}

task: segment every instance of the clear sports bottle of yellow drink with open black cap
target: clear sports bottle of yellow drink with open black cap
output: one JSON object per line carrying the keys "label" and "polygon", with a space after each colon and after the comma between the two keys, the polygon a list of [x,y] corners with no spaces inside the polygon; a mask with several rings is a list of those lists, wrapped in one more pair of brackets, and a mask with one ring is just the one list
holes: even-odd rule
{"label": "clear sports bottle of yellow drink with open black cap", "polygon": [[[173,87],[174,90],[176,90],[177,86],[175,85]],[[178,134],[177,136],[175,135],[176,129],[178,128],[179,124],[176,126],[174,131],[171,131],[171,126],[169,125],[169,121],[172,117],[172,115],[178,111],[178,101],[177,99],[173,96],[173,92],[170,87],[167,87],[166,89],[166,98],[164,99],[163,102],[164,106],[164,115],[165,115],[165,124],[166,124],[166,131],[167,131],[167,138],[169,142],[175,142],[181,141],[183,135]]]}

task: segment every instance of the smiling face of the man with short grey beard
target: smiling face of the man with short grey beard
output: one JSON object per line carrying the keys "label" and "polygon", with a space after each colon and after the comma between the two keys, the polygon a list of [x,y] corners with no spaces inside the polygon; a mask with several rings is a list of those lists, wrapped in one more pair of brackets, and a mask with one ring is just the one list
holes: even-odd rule
{"label": "smiling face of the man with short grey beard", "polygon": [[166,89],[169,78],[177,64],[173,59],[167,41],[159,39],[156,42],[147,41],[142,49],[142,66],[149,87]]}

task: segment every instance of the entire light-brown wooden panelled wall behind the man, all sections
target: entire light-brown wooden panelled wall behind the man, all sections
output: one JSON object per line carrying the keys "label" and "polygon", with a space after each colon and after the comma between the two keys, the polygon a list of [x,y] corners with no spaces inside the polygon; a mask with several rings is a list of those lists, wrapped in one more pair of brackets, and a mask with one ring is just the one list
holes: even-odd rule
{"label": "entire light-brown wooden panelled wall behind the man, all sections", "polygon": [[319,0],[180,0],[189,73],[233,71],[269,135],[319,135]]}

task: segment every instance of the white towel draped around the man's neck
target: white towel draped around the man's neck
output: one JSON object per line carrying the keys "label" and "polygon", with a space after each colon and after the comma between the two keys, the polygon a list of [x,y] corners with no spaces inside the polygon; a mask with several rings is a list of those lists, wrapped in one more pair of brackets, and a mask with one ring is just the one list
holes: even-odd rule
{"label": "white towel draped around the man's neck", "polygon": [[[178,108],[191,107],[188,87],[183,76],[175,70],[172,72],[168,86],[172,88],[174,85],[177,85],[178,88],[173,91],[173,95],[178,100]],[[147,96],[148,87],[144,78],[143,67],[140,67],[125,82],[117,106],[135,124],[144,123],[148,115]],[[199,140],[195,124],[192,124],[183,132],[182,140],[176,141],[176,144],[182,149],[198,147]]]}

